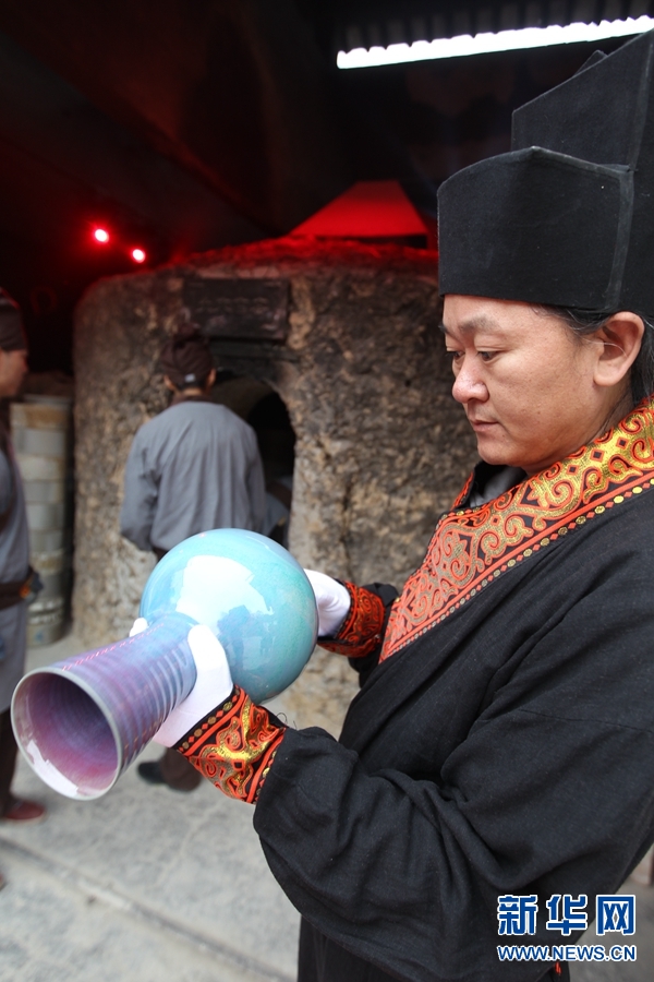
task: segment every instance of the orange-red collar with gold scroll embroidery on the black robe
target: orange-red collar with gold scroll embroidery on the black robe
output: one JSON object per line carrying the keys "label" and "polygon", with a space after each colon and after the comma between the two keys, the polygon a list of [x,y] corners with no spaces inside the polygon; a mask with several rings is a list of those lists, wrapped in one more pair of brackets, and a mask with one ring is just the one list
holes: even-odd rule
{"label": "orange-red collar with gold scroll embroidery on the black robe", "polygon": [[559,537],[654,486],[654,398],[613,430],[476,508],[444,515],[388,622],[383,661]]}

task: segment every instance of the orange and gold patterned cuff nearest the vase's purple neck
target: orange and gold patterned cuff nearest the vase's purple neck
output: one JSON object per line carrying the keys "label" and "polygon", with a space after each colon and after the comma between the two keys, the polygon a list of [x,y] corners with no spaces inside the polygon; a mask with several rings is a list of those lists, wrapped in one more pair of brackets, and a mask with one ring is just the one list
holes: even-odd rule
{"label": "orange and gold patterned cuff nearest the vase's purple neck", "polygon": [[255,804],[286,727],[234,685],[230,697],[175,746],[228,798]]}

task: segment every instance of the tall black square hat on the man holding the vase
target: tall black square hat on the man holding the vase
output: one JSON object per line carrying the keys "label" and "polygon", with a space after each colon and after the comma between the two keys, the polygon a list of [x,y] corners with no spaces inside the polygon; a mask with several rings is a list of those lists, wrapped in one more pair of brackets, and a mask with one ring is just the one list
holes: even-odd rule
{"label": "tall black square hat on the man holding the vase", "polygon": [[438,192],[441,294],[654,314],[654,32],[517,109]]}

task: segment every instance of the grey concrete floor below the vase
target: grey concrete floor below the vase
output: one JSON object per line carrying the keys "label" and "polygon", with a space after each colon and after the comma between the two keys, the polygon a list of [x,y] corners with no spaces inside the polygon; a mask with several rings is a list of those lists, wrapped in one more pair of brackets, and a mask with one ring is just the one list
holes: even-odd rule
{"label": "grey concrete floor below the vase", "polygon": [[[69,636],[31,650],[28,668],[78,650]],[[150,745],[141,759],[159,754]],[[250,806],[208,782],[191,794],[153,788],[134,767],[106,798],[78,803],[21,759],[14,790],[44,802],[48,818],[0,824],[0,982],[292,982],[299,918]],[[626,891],[637,936],[614,937],[637,944],[638,961],[580,963],[574,982],[654,979],[654,889]]]}

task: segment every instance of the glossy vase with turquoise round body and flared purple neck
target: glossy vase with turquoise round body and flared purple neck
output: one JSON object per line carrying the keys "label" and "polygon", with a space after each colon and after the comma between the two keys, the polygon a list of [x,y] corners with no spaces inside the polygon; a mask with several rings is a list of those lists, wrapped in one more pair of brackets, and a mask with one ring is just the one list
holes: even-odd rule
{"label": "glossy vase with turquoise round body and flared purple neck", "polygon": [[29,672],[12,700],[19,746],[68,798],[99,798],[195,685],[187,635],[207,625],[233,681],[262,703],[314,649],[317,609],[302,567],[271,539],[216,529],[171,549],[141,601],[141,634]]}

